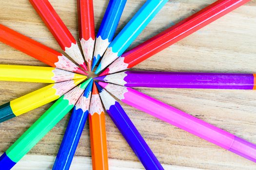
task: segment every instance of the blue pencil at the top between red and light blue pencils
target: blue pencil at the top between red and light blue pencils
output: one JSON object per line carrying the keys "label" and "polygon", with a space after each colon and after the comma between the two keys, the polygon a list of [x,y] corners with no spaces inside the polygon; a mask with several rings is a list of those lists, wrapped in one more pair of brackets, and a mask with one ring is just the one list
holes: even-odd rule
{"label": "blue pencil at the top between red and light blue pencils", "polygon": [[127,0],[109,0],[96,37],[92,70],[107,50],[117,30]]}

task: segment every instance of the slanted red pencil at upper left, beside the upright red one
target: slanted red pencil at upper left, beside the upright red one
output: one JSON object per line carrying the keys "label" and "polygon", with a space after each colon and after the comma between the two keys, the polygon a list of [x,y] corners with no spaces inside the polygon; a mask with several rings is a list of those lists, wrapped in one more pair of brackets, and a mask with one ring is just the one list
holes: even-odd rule
{"label": "slanted red pencil at upper left, beside the upright red one", "polygon": [[87,71],[88,69],[84,63],[77,41],[56,13],[51,3],[48,0],[29,1],[42,18],[49,31],[53,34],[61,49]]}

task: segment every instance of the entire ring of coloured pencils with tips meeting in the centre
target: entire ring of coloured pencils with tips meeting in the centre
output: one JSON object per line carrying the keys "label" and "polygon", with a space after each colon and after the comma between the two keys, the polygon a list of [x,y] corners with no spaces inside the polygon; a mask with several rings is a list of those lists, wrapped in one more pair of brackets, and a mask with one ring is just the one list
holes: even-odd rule
{"label": "entire ring of coloured pencils with tips meeting in the centre", "polygon": [[[127,0],[109,0],[97,35],[93,0],[77,0],[79,41],[82,52],[48,0],[29,1],[54,35],[61,49],[76,64],[60,52],[0,24],[2,43],[50,66],[0,65],[0,81],[50,84],[0,105],[0,122],[8,121],[56,100],[0,156],[0,170],[11,170],[72,108],[53,170],[70,168],[87,119],[89,119],[93,170],[108,170],[103,107],[144,168],[164,170],[157,156],[114,97],[157,119],[256,162],[255,144],[131,88],[249,90],[256,89],[256,74],[124,71],[250,0],[217,0],[130,51],[126,50],[168,0],[147,0],[115,38],[114,34]],[[96,68],[95,74],[100,74],[98,77],[87,79],[86,71],[93,71],[94,68]]]}

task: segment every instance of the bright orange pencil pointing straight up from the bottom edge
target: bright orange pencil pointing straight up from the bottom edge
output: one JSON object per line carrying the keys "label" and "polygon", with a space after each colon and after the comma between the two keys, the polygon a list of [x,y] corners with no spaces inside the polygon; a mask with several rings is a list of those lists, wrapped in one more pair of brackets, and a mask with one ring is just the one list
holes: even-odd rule
{"label": "bright orange pencil pointing straight up from the bottom edge", "polygon": [[105,114],[95,83],[89,110],[89,126],[93,170],[108,170]]}

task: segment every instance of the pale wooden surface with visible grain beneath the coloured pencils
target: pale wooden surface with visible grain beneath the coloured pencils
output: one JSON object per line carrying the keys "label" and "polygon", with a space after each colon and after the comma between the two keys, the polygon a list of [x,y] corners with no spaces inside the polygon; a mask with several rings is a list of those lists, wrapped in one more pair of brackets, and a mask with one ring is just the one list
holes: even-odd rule
{"label": "pale wooden surface with visible grain beneath the coloured pencils", "polygon": [[[118,32],[146,0],[128,0]],[[169,0],[147,26],[135,47],[215,0]],[[76,0],[50,0],[78,40]],[[107,0],[94,0],[96,29]],[[55,50],[59,45],[28,0],[0,0],[0,23]],[[0,64],[45,66],[36,59],[0,43]],[[256,73],[256,0],[218,19],[172,47],[159,52],[135,69]],[[0,104],[46,84],[0,82]],[[256,92],[251,90],[147,89],[140,91],[177,107],[199,119],[256,143]],[[0,152],[6,149],[41,116],[52,103],[0,124]],[[122,104],[166,170],[250,170],[256,164],[225,151],[197,136]],[[61,120],[16,166],[15,170],[50,170],[70,115]],[[111,170],[143,169],[138,158],[106,117]],[[91,167],[88,124],[81,136],[72,170]]]}

